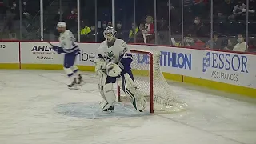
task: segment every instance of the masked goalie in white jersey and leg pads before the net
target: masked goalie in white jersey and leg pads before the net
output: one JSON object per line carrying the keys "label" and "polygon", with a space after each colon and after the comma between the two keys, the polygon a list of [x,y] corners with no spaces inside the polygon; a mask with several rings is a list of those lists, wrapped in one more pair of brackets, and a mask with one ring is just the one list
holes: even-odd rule
{"label": "masked goalie in white jersey and leg pads before the net", "polygon": [[98,48],[98,57],[95,59],[95,71],[98,75],[98,88],[102,96],[100,108],[103,112],[114,112],[116,95],[113,84],[118,82],[124,93],[130,99],[135,110],[142,112],[146,106],[146,99],[140,94],[134,84],[134,76],[130,63],[132,54],[122,39],[115,38],[116,31],[108,26],[103,32],[105,41]]}

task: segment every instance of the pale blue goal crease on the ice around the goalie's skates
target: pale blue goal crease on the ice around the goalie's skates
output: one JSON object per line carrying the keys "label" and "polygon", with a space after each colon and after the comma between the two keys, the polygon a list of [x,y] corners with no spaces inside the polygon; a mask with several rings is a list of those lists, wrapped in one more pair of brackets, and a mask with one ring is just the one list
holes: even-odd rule
{"label": "pale blue goal crease on the ice around the goalie's skates", "polygon": [[150,115],[150,112],[145,111],[140,113],[137,110],[134,110],[133,106],[124,105],[122,103],[117,103],[115,105],[114,113],[110,114],[103,114],[96,102],[60,104],[54,107],[54,110],[58,114],[87,119],[127,118]]}

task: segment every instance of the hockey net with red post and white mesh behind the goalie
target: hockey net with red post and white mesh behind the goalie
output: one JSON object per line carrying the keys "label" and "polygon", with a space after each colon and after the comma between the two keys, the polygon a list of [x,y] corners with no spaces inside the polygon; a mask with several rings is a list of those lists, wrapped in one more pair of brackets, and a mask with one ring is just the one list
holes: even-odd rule
{"label": "hockey net with red post and white mesh behind the goalie", "polygon": [[[178,99],[178,95],[170,89],[160,69],[160,52],[131,50],[131,64],[134,81],[138,90],[150,103],[150,113],[154,111],[185,110],[186,103]],[[126,94],[118,86],[118,102],[127,101]]]}

